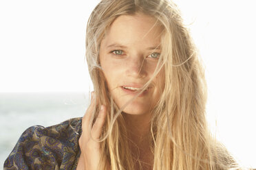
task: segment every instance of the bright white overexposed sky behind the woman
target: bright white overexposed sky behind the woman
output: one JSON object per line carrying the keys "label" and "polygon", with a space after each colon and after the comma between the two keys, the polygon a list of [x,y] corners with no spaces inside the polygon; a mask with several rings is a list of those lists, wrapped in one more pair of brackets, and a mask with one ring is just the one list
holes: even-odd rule
{"label": "bright white overexposed sky behind the woman", "polygon": [[[217,138],[256,168],[255,1],[176,0],[206,68]],[[98,0],[1,0],[0,93],[89,92],[85,28]]]}

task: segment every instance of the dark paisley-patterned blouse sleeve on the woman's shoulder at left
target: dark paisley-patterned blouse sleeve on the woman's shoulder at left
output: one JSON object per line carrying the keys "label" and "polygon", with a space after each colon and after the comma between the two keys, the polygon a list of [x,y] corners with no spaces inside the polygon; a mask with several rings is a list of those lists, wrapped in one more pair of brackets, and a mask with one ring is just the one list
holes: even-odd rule
{"label": "dark paisley-patterned blouse sleeve on the woman's shoulder at left", "polygon": [[6,159],[3,169],[76,169],[82,118],[50,127],[29,127]]}

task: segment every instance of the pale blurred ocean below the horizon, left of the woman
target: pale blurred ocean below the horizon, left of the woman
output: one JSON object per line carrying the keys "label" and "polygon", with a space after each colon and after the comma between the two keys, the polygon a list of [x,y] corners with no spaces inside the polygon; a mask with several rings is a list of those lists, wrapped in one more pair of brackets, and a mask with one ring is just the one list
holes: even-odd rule
{"label": "pale blurred ocean below the horizon, left of the woman", "polygon": [[0,93],[0,169],[22,132],[83,117],[88,93]]}

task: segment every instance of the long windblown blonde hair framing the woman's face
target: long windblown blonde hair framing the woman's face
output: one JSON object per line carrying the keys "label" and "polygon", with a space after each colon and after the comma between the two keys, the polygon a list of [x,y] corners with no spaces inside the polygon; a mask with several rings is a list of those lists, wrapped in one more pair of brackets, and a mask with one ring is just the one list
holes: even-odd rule
{"label": "long windblown blonde hair framing the woman's face", "polygon": [[100,67],[99,50],[107,29],[118,16],[138,12],[154,17],[163,28],[154,76],[164,69],[164,89],[151,113],[153,169],[235,169],[233,158],[208,130],[204,69],[177,6],[167,0],[103,0],[89,17],[86,58],[97,97],[91,123],[101,104],[107,106],[108,112],[100,139],[102,160],[98,168],[104,169],[109,161],[112,170],[135,169],[137,158],[130,151],[121,114],[125,106],[118,108],[111,98]]}

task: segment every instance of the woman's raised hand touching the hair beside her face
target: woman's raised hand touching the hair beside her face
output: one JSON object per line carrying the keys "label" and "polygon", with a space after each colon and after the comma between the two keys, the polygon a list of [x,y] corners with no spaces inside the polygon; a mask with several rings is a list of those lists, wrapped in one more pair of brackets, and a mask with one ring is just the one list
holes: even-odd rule
{"label": "woman's raised hand touching the hair beside her face", "polygon": [[91,128],[89,121],[92,118],[92,112],[96,103],[96,97],[92,92],[92,99],[85,116],[82,119],[82,134],[79,138],[79,146],[81,149],[81,156],[78,160],[77,169],[96,170],[100,162],[100,143],[96,142],[100,138],[103,130],[105,118],[107,115],[105,106],[100,106],[100,112],[95,123],[92,125],[92,136],[90,134]]}

